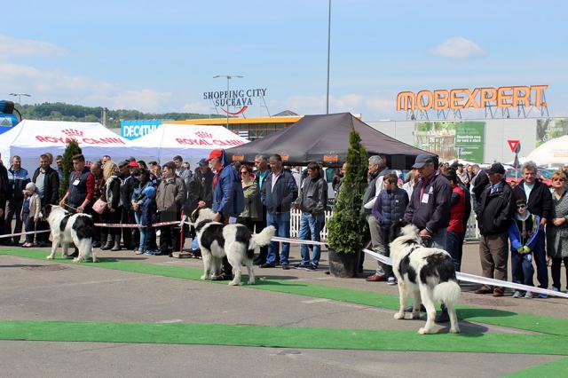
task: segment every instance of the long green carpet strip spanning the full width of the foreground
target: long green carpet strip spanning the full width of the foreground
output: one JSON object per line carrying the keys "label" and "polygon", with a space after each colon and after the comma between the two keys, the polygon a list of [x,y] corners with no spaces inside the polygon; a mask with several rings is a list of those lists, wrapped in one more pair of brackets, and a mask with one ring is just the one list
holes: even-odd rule
{"label": "long green carpet strip spanning the full width of the foreground", "polygon": [[556,335],[418,335],[415,331],[193,323],[3,320],[0,340],[568,355],[568,339]]}

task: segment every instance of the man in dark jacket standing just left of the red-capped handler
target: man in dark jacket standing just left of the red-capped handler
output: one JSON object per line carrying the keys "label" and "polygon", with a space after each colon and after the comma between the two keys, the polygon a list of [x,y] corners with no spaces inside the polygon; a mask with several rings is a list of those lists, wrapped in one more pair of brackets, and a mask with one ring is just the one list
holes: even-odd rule
{"label": "man in dark jacket standing just left of the red-capped handler", "polygon": [[[215,175],[209,168],[209,161],[201,159],[195,173],[189,180],[189,187],[187,188],[189,214],[193,213],[193,210],[198,207],[210,208],[213,204],[213,177]],[[192,253],[193,256],[201,256],[199,243],[195,237],[192,240]]]}

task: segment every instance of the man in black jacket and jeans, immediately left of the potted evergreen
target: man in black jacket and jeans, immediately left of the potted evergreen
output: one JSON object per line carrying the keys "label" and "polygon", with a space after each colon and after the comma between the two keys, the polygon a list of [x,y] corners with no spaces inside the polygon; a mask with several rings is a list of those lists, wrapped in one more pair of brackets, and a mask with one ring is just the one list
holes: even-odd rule
{"label": "man in black jacket and jeans, immediately left of the potted evergreen", "polygon": [[[318,163],[311,162],[308,164],[308,177],[305,177],[302,182],[302,190],[298,200],[299,208],[302,209],[298,239],[319,241],[319,232],[321,232],[325,222],[327,181],[321,177]],[[312,237],[308,239],[310,234]],[[305,268],[311,271],[318,269],[320,251],[321,247],[314,245],[311,259],[310,249],[307,245],[302,244],[300,246],[302,262],[297,265],[297,268]]]}

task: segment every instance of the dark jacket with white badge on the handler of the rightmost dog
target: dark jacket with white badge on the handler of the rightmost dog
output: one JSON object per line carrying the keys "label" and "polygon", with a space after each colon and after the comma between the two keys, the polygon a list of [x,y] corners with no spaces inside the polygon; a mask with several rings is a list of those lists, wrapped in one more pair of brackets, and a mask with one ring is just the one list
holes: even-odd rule
{"label": "dark jacket with white badge on the handler of the rightmost dog", "polygon": [[447,228],[450,224],[451,197],[452,185],[438,171],[427,183],[424,183],[424,178],[421,177],[414,185],[412,199],[406,207],[406,222],[431,233]]}

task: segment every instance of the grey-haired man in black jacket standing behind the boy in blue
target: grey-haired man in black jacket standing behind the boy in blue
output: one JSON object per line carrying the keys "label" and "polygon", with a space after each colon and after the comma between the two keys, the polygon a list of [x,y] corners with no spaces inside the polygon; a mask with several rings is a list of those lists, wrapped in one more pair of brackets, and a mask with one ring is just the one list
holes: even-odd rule
{"label": "grey-haired man in black jacket standing behind the boy in blue", "polygon": [[[536,178],[537,166],[533,161],[527,161],[521,169],[523,180],[513,189],[515,200],[526,202],[527,209],[531,214],[540,217],[539,234],[534,248],[534,263],[536,264],[536,277],[542,288],[548,288],[547,255],[545,249],[544,225],[548,219],[552,219],[552,195],[548,186]],[[548,295],[541,294],[541,298]]]}

